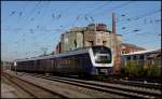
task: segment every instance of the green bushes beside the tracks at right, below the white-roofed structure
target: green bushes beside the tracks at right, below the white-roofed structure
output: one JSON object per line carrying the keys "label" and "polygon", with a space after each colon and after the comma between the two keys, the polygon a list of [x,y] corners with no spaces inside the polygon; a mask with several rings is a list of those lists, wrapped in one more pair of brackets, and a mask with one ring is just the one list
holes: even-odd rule
{"label": "green bushes beside the tracks at right, below the white-roofed structure", "polygon": [[160,77],[162,68],[158,66],[138,66],[135,61],[127,61],[125,67],[121,68],[122,76],[135,77]]}

